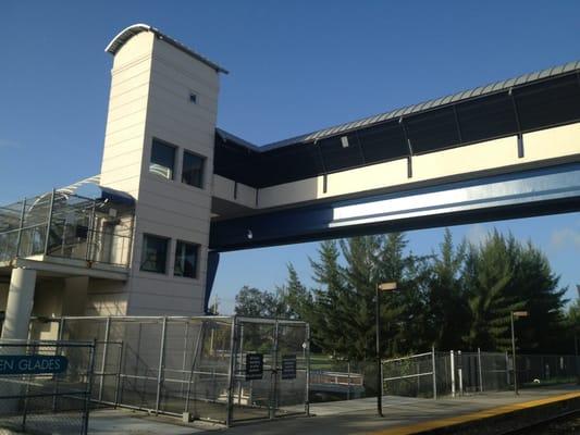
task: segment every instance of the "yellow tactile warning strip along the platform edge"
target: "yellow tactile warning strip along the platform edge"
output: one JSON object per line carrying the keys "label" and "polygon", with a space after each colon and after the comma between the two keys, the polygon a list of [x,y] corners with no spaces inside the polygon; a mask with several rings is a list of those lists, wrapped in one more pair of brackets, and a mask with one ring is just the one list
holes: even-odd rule
{"label": "yellow tactile warning strip along the platform edge", "polygon": [[385,428],[381,431],[374,431],[374,432],[371,432],[370,434],[373,434],[373,435],[420,434],[421,432],[432,431],[439,427],[447,427],[447,426],[453,426],[456,424],[474,422],[478,420],[489,419],[491,417],[508,414],[510,412],[520,411],[523,409],[530,409],[530,408],[541,407],[544,405],[556,403],[558,401],[575,399],[579,397],[580,397],[580,393],[568,393],[568,394],[560,395],[560,396],[552,396],[546,399],[531,400],[531,401],[525,401],[520,403],[505,405],[503,407],[497,407],[497,408],[484,409],[482,411],[472,412],[472,413],[464,414],[464,415],[447,417],[447,418],[440,419],[440,420],[431,420],[431,421],[425,421],[421,423],[415,423],[415,424],[407,425],[407,426],[398,426],[398,427],[391,427],[391,428]]}

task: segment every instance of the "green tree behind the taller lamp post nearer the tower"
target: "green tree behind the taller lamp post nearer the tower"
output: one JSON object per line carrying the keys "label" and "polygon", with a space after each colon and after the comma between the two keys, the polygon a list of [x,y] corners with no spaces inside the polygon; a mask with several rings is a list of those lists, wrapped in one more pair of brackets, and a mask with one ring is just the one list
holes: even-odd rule
{"label": "green tree behind the taller lamp post nearer the tower", "polygon": [[372,360],[375,289],[379,283],[392,281],[400,291],[380,295],[383,356],[424,348],[428,261],[405,253],[406,246],[402,234],[320,245],[319,260],[311,260],[320,287],[308,320],[322,349],[353,360]]}

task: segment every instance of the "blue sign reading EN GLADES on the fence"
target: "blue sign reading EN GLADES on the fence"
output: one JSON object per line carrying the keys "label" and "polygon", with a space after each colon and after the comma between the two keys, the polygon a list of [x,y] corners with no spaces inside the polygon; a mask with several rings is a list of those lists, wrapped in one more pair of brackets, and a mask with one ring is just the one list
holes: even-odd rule
{"label": "blue sign reading EN GLADES on the fence", "polygon": [[69,360],[49,355],[0,355],[0,375],[64,373]]}

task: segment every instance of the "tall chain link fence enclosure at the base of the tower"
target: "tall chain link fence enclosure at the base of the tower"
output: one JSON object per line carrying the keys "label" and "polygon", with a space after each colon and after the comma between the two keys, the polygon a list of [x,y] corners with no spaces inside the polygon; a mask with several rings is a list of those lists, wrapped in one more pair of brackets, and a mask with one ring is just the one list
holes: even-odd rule
{"label": "tall chain link fence enclosure at the base of the tower", "polygon": [[[225,424],[308,412],[304,322],[229,316],[53,322],[62,340],[96,340],[94,403]],[[32,330],[52,326],[37,322]],[[262,356],[259,380],[247,378],[248,355]]]}

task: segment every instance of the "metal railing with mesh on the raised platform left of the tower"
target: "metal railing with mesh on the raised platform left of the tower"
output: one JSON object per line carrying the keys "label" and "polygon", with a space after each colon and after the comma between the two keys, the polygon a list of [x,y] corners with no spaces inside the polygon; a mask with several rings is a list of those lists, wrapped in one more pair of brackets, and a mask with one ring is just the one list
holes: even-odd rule
{"label": "metal railing with mesh on the raised platform left of the tower", "polygon": [[[126,266],[133,210],[57,190],[0,208],[0,262],[38,254]],[[116,213],[116,210],[113,214]]]}

